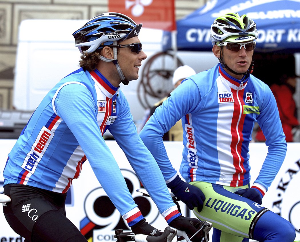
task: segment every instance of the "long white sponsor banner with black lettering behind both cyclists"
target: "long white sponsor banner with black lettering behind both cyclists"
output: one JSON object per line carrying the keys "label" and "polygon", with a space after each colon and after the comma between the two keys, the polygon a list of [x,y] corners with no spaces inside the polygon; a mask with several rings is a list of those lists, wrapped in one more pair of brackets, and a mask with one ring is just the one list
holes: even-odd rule
{"label": "long white sponsor banner with black lettering behind both cyclists", "polygon": [[[3,192],[3,169],[5,161],[15,141],[13,139],[0,139],[0,159],[2,161],[0,163],[1,192]],[[113,151],[113,155],[117,157],[118,165],[128,184],[129,191],[142,213],[146,214],[147,221],[157,229],[163,230],[168,226],[167,222],[159,214],[154,202],[148,197],[143,197],[136,191],[141,188],[141,184],[127,161],[125,154],[119,148],[116,141],[106,141],[106,143],[110,150]],[[166,141],[164,144],[174,168],[179,171],[182,143],[179,141]],[[298,196],[298,184],[300,182],[299,145],[299,143],[288,143],[285,161],[271,187],[262,199],[263,206],[289,220],[295,226],[295,229],[300,228],[300,217],[298,216],[300,212],[300,198]],[[267,152],[265,144],[250,143],[251,184],[253,184],[259,175],[259,170],[262,167]],[[129,232],[126,221],[123,220],[122,216],[108,199],[88,162],[85,162],[82,166],[80,177],[73,180],[71,188],[71,194],[69,194],[71,196],[68,196],[68,199],[72,201],[69,201],[66,205],[67,217],[85,235],[88,241],[116,241],[113,237],[115,229],[123,229],[125,232]],[[182,202],[180,202],[180,206],[184,216],[195,217]],[[30,207],[30,209],[32,208]],[[32,217],[35,215],[33,210],[30,214]],[[2,221],[0,225],[1,241],[23,241],[6,223],[2,212],[0,213],[0,220]],[[212,236],[212,231],[210,232],[210,236]],[[296,232],[296,240],[300,240],[300,232]]]}

